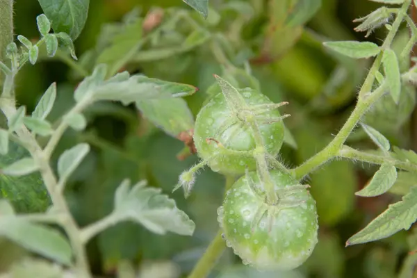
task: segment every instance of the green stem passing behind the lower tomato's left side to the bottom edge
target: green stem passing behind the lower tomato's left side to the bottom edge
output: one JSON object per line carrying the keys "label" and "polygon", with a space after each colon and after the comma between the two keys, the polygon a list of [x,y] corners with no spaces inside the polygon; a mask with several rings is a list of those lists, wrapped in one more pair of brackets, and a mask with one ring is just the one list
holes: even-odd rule
{"label": "green stem passing behind the lower tomato's left side to the bottom edge", "polygon": [[[231,188],[231,186],[234,184],[234,181],[234,176],[226,177],[224,195],[226,195],[227,190],[229,190],[229,188]],[[188,278],[207,277],[225,248],[226,244],[224,243],[224,240],[222,238],[222,229],[219,229],[215,238],[211,241],[210,245],[208,245],[206,252],[204,252],[204,255],[199,259],[197,265],[195,265],[190,275],[188,275]]]}

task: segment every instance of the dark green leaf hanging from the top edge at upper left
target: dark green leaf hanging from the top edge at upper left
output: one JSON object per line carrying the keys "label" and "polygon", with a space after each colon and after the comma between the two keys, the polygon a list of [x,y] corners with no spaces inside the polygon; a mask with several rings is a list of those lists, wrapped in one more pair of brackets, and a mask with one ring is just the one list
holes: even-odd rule
{"label": "dark green leaf hanging from the top edge at upper left", "polygon": [[38,0],[54,32],[65,32],[72,40],[80,35],[88,15],[90,0]]}

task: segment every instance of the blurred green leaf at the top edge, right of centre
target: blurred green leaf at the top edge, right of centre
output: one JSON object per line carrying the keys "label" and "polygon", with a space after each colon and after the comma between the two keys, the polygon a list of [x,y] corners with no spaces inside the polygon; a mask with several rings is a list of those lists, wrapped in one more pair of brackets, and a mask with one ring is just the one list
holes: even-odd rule
{"label": "blurred green leaf at the top edge, right of centre", "polygon": [[305,24],[318,12],[321,5],[321,0],[297,1],[292,13],[286,19],[286,25],[293,27]]}

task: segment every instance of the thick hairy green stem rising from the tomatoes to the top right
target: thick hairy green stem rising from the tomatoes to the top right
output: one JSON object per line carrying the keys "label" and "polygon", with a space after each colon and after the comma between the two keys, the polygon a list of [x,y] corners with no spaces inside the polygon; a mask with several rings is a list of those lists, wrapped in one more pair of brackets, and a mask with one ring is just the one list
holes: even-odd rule
{"label": "thick hairy green stem rising from the tomatoes to the top right", "polygon": [[[386,36],[386,39],[384,40],[384,44],[382,44],[381,48],[383,50],[389,49],[389,47],[391,47],[393,38],[395,37],[395,34],[398,32],[398,28],[400,28],[402,20],[407,15],[407,10],[410,4],[411,0],[405,0],[402,4],[402,7],[398,11],[398,15],[395,18],[395,21],[393,22],[391,31],[389,31],[388,35]],[[306,174],[309,174],[309,172],[312,172],[323,163],[334,158],[343,146],[343,143],[345,142],[347,137],[354,129],[354,126],[357,125],[361,117],[366,113],[366,111],[368,111],[368,108],[370,106],[373,106],[373,104],[375,104],[379,97],[382,97],[382,95],[384,95],[384,85],[379,86],[377,90],[369,94],[370,90],[372,90],[373,83],[375,81],[375,74],[381,66],[383,54],[383,51],[381,51],[377,55],[377,58],[375,58],[375,61],[369,70],[368,76],[366,76],[361,90],[359,91],[357,106],[354,108],[354,111],[347,119],[347,121],[343,125],[342,129],[338,132],[336,137],[332,140],[332,142],[329,143],[329,145],[327,145],[327,147],[325,147],[320,152],[309,158],[309,160],[307,160],[302,165],[291,170],[296,179],[304,178]]]}

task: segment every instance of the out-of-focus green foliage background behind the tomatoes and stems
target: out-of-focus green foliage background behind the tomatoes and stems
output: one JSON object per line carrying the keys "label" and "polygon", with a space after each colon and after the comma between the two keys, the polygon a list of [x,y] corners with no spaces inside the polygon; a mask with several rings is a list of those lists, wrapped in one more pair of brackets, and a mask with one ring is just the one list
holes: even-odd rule
{"label": "out-of-focus green foliage background behind the tomatoes and stems", "polygon": [[[320,9],[305,22],[305,26],[291,26],[283,21],[282,18],[290,12],[282,3],[281,0],[211,0],[211,8],[218,10],[221,16],[220,23],[213,24],[220,20],[213,17],[214,12],[204,22],[180,0],[91,0],[88,22],[75,42],[76,54],[81,65],[90,72],[91,63],[85,53],[99,49],[98,42],[105,37],[104,24],[120,22],[134,8],[141,16],[156,6],[177,6],[186,10],[213,33],[225,35],[225,44],[235,54],[234,65],[244,67],[242,61],[250,60],[252,73],[265,95],[275,102],[290,102],[282,111],[292,115],[285,123],[295,141],[284,145],[280,159],[293,167],[318,152],[340,129],[354,107],[357,89],[370,65],[369,60],[335,56],[323,49],[321,42],[370,40],[379,44],[385,31],[382,27],[369,38],[364,38],[365,33],[353,31],[353,19],[379,7],[378,3],[371,1],[322,0]],[[268,4],[271,5],[269,8]],[[15,33],[37,38],[35,17],[40,13],[38,1],[15,1]],[[181,24],[178,26],[181,27],[179,35],[175,33],[172,38],[167,35],[165,44],[181,44],[186,38],[184,34],[189,31]],[[408,35],[407,29],[403,28],[395,40],[395,49],[402,49]],[[153,49],[158,45],[151,42],[147,47]],[[214,81],[212,74],[223,73],[205,44],[167,58],[137,58],[126,68],[131,73],[140,72],[149,77],[197,86],[199,92],[185,98],[194,115],[209,95],[207,89]],[[57,103],[49,117],[49,120],[56,120],[74,103],[72,94],[81,80],[79,72],[60,59],[45,59],[35,66],[27,65],[19,72],[16,81],[18,103],[31,111],[44,90],[56,81]],[[242,87],[247,85],[246,81],[250,82],[245,76],[236,80]],[[414,110],[414,99],[414,88],[404,87],[400,106],[395,106],[391,98],[382,99],[363,121],[382,131],[392,145],[415,149],[415,124],[409,120]],[[93,151],[73,175],[66,193],[81,225],[98,220],[111,211],[115,188],[126,177],[133,181],[147,179],[152,186],[163,188],[164,193],[173,197],[179,208],[186,211],[197,225],[195,235],[186,237],[174,234],[157,236],[137,224],[118,224],[88,245],[94,272],[97,276],[111,277],[117,264],[122,259],[129,259],[138,266],[154,267],[158,273],[149,277],[185,275],[218,229],[216,209],[222,200],[224,178],[206,168],[199,174],[193,194],[184,199],[180,190],[171,191],[179,174],[193,165],[197,157],[177,158],[184,148],[183,142],[157,129],[134,107],[99,103],[89,108],[85,115],[88,128],[83,133],[67,131],[56,152],[58,157],[60,152],[76,142],[88,142],[92,146]],[[353,133],[348,143],[370,152],[374,149],[360,131]],[[5,160],[1,162],[8,163]],[[308,177],[311,193],[318,203],[320,240],[309,261],[300,269],[291,273],[255,272],[240,265],[233,252],[227,250],[211,277],[397,277],[404,260],[410,260],[408,252],[415,249],[412,231],[402,231],[376,243],[344,247],[347,238],[401,197],[401,190],[375,198],[354,195],[375,170],[375,167],[362,163],[334,161]],[[27,181],[17,181],[13,188],[3,185],[1,191],[13,200],[18,211],[43,211],[48,199],[39,182],[31,183],[37,180],[38,177],[30,176]],[[6,248],[10,251],[3,252]],[[7,242],[0,242],[0,249],[0,270],[23,252]]]}

